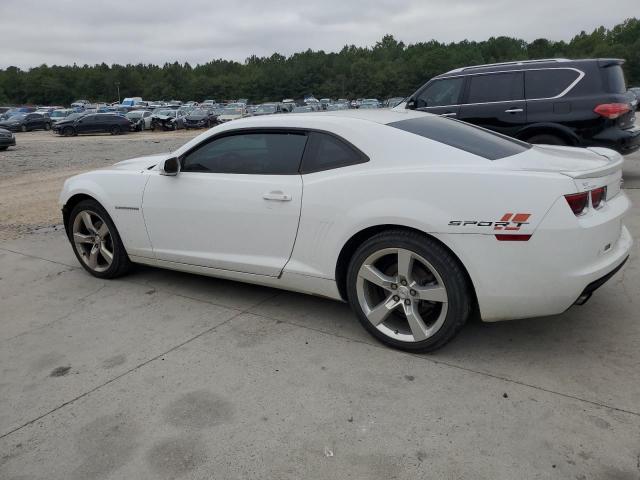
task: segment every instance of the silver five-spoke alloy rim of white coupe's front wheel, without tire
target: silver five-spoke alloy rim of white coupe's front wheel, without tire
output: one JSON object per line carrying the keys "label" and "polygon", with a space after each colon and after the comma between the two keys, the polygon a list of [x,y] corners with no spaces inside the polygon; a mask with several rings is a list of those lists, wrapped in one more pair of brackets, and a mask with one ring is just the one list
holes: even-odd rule
{"label": "silver five-spoke alloy rim of white coupe's front wheel, without tire", "polygon": [[96,272],[113,262],[113,240],[106,222],[95,212],[83,210],[73,220],[73,243],[82,261]]}

